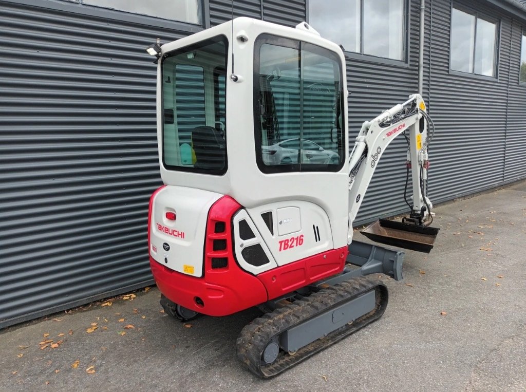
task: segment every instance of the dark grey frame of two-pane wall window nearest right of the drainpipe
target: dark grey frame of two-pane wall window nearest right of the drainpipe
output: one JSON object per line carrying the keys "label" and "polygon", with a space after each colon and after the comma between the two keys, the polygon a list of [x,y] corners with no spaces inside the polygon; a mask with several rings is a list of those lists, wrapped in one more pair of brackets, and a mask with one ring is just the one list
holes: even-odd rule
{"label": "dark grey frame of two-pane wall window nearest right of the drainpipe", "polygon": [[[453,9],[457,9],[463,13],[472,15],[475,17],[475,32],[473,38],[473,70],[475,69],[475,51],[477,50],[477,19],[482,19],[483,21],[494,23],[495,24],[495,58],[493,59],[493,75],[482,75],[476,74],[474,72],[464,72],[457,71],[456,69],[451,68],[451,52],[452,52],[452,40],[453,35]],[[499,18],[493,18],[488,16],[484,12],[480,12],[477,9],[458,4],[456,2],[451,2],[451,8],[449,12],[449,74],[456,76],[472,77],[476,79],[482,79],[485,81],[499,81],[499,65],[500,65],[500,36],[501,36],[502,23]]]}

